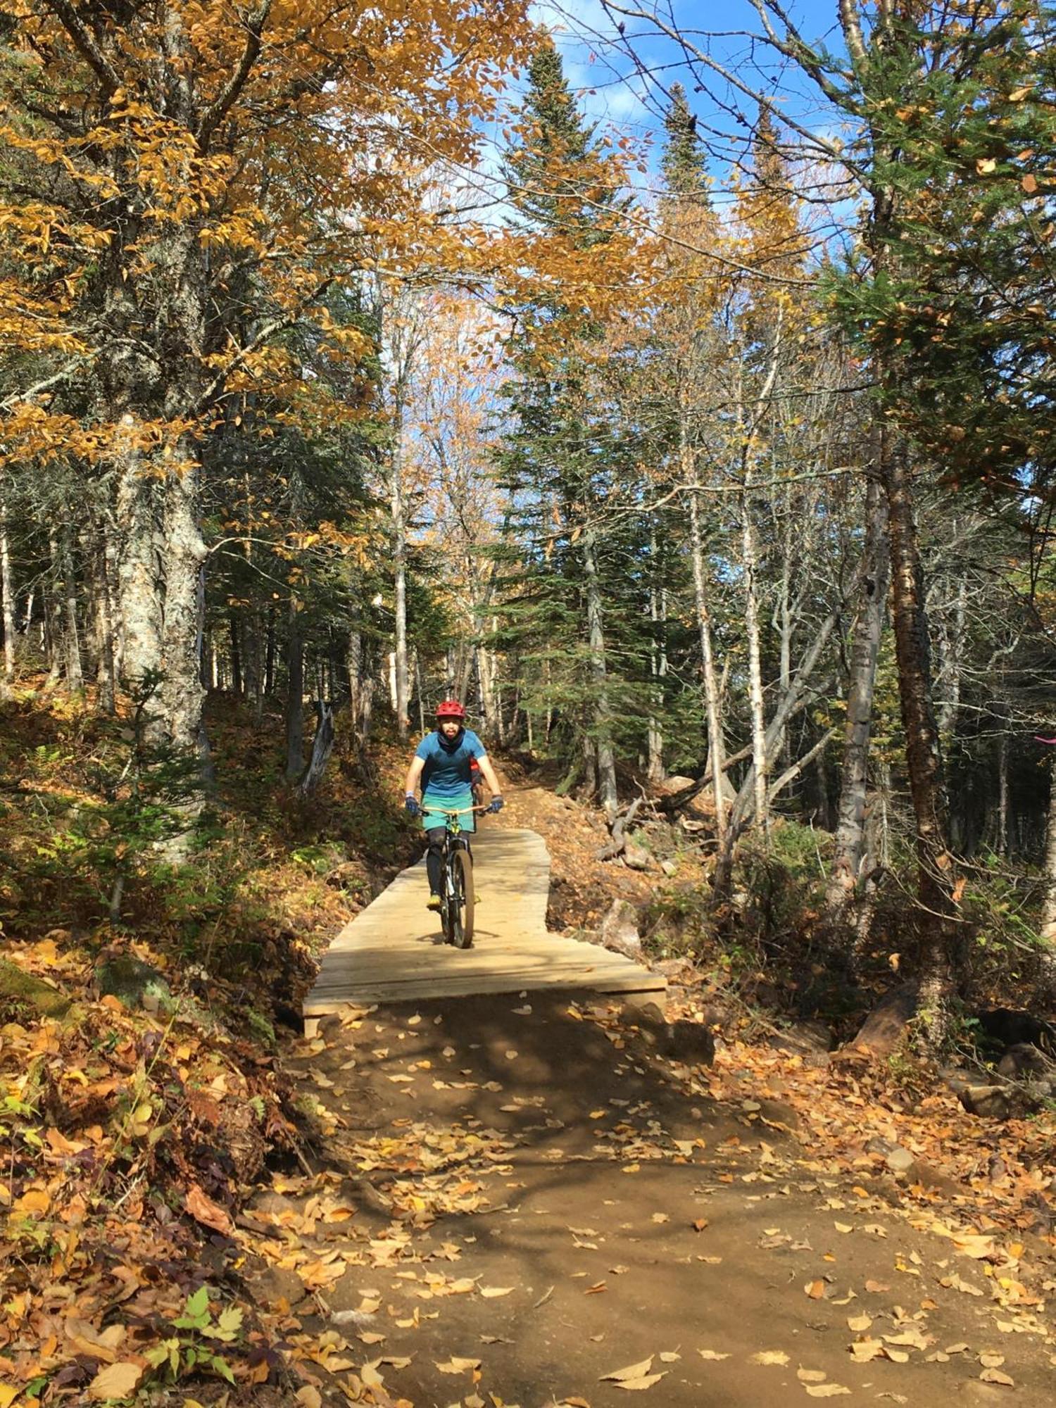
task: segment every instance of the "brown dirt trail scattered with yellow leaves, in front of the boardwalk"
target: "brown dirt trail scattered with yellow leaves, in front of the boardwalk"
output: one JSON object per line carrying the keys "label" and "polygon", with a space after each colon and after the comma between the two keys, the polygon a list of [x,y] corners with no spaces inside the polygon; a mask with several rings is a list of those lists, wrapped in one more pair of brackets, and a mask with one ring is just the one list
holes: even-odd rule
{"label": "brown dirt trail scattered with yellow leaves, in front of the boardwalk", "polygon": [[812,1162],[749,1073],[715,1101],[617,1011],[460,998],[298,1045],[345,1177],[279,1181],[253,1217],[315,1288],[304,1345],[332,1329],[335,1376],[304,1362],[327,1401],[608,1408],[603,1376],[648,1362],[627,1388],[665,1408],[1050,1402],[1042,1309],[1001,1307],[994,1257]]}

